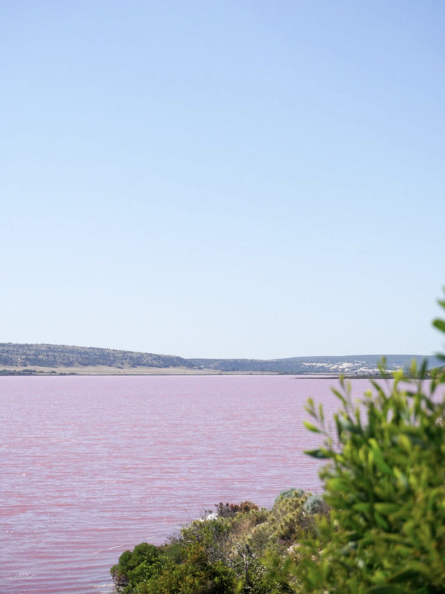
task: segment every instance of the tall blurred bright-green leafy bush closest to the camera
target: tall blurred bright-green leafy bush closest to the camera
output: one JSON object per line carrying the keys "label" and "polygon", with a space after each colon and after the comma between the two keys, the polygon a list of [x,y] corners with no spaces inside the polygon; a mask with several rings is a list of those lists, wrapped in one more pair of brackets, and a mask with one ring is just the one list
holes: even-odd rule
{"label": "tall blurred bright-green leafy bush closest to the camera", "polygon": [[310,454],[331,460],[321,478],[332,512],[293,564],[298,591],[445,591],[445,371],[426,377],[413,364],[409,380],[372,381],[357,401],[342,381],[334,430],[309,400],[307,428],[325,437]]}

